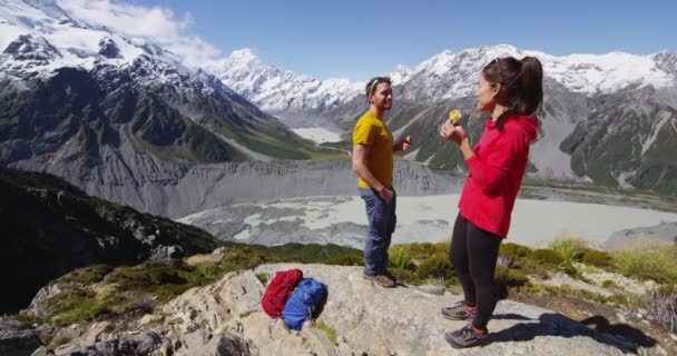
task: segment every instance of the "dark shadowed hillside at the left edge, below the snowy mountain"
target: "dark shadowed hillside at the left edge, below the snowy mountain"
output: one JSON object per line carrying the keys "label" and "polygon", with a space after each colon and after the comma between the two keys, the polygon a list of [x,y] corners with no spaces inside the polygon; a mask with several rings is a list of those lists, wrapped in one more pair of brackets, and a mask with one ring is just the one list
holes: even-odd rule
{"label": "dark shadowed hillside at the left edge, below the snowy mountain", "polygon": [[[92,264],[137,264],[213,250],[209,234],[87,196],[50,175],[0,167],[0,313],[26,307],[47,281]],[[8,273],[14,270],[17,273]]]}

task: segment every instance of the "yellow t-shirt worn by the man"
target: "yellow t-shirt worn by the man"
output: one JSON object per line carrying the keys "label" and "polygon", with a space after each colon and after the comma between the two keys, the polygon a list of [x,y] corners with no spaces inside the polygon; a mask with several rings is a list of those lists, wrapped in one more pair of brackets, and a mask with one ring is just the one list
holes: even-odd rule
{"label": "yellow t-shirt worn by the man", "polygon": [[[353,146],[370,147],[366,167],[374,177],[390,188],[393,186],[393,136],[385,122],[371,111],[366,111],[355,123]],[[370,188],[362,178],[357,180],[360,188]]]}

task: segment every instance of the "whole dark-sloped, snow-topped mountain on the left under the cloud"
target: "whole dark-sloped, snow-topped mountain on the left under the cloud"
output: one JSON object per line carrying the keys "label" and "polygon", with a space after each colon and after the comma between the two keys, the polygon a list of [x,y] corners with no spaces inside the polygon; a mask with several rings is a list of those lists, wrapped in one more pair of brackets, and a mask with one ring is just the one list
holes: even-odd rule
{"label": "whole dark-sloped, snow-topped mountain on the left under the cloud", "polygon": [[86,191],[124,186],[138,199],[136,188],[175,179],[179,164],[317,151],[214,76],[146,39],[73,19],[55,1],[0,0],[0,50],[3,166],[52,172]]}

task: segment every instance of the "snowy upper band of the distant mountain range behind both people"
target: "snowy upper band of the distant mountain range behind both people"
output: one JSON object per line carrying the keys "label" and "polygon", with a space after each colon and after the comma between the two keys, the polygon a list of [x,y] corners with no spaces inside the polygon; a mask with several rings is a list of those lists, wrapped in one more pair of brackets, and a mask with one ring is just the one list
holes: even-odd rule
{"label": "snowy upper band of the distant mountain range behind both people", "polygon": [[[484,65],[497,57],[538,57],[546,76],[572,92],[587,96],[612,93],[624,88],[653,86],[666,88],[677,82],[677,55],[660,52],[636,56],[624,52],[607,55],[551,56],[544,52],[519,50],[499,44],[443,51],[413,69],[399,66],[390,72],[394,86],[404,99],[459,99],[473,93],[477,76]],[[212,63],[213,72],[236,92],[258,105],[263,110],[325,111],[362,96],[364,81],[346,79],[320,80],[296,75],[265,63],[251,50],[234,51],[220,62]],[[365,81],[369,78],[365,78]]]}

